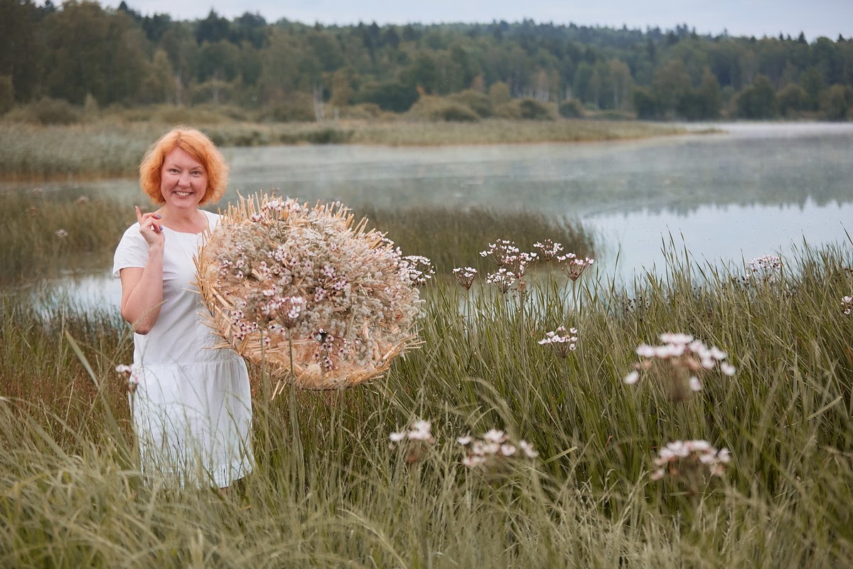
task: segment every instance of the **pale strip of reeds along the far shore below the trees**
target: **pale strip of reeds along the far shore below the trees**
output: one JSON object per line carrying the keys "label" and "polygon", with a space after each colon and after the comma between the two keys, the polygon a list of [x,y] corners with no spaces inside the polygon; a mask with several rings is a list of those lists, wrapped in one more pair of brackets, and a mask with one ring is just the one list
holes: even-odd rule
{"label": "pale strip of reeds along the far shore below the trees", "polygon": [[637,121],[485,120],[430,123],[397,120],[369,123],[247,123],[220,119],[194,123],[102,120],[83,125],[36,126],[0,123],[0,181],[36,182],[133,177],[148,145],[178,123],[199,127],[223,147],[277,144],[379,144],[441,146],[528,142],[594,142],[681,133],[670,125]]}

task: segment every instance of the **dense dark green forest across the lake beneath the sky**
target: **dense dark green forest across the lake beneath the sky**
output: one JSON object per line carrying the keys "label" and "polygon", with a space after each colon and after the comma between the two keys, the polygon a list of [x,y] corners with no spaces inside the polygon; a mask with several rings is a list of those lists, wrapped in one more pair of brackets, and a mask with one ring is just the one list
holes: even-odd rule
{"label": "dense dark green forest across the lake beneath the sky", "polygon": [[[492,21],[314,26],[142,15],[124,2],[0,0],[0,113],[44,97],[106,107],[210,103],[271,119],[401,113],[423,96],[556,102],[641,119],[853,116],[853,41]],[[467,97],[467,98],[465,98]]]}

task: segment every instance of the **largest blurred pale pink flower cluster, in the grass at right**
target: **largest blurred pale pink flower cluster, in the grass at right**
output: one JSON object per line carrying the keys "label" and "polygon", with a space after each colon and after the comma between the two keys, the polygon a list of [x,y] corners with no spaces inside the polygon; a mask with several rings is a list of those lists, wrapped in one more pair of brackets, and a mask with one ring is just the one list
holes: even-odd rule
{"label": "largest blurred pale pink flower cluster, in the grass at right", "polygon": [[662,345],[641,344],[636,354],[643,358],[624,382],[634,385],[640,374],[652,373],[663,381],[671,401],[685,401],[692,392],[702,389],[700,378],[717,369],[724,375],[734,375],[734,366],[726,361],[726,352],[716,346],[708,347],[689,334],[660,334]]}

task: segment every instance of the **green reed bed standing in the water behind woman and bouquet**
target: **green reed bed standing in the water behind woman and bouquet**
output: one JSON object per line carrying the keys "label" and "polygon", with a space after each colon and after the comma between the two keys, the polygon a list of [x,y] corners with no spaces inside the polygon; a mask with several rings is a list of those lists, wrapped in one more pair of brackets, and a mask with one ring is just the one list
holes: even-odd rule
{"label": "green reed bed standing in the water behind woman and bouquet", "polygon": [[[212,211],[220,206],[226,204],[212,206]],[[79,268],[87,256],[93,263],[101,261],[96,270],[101,269],[109,264],[125,229],[136,221],[131,202],[90,199],[71,191],[0,192],[0,211],[7,218],[0,224],[0,285]],[[417,207],[362,208],[354,213],[385,231],[404,253],[425,255],[445,272],[461,264],[485,269],[478,252],[499,238],[532,248],[537,239],[551,235],[578,254],[594,250],[593,235],[577,221],[537,212]]]}

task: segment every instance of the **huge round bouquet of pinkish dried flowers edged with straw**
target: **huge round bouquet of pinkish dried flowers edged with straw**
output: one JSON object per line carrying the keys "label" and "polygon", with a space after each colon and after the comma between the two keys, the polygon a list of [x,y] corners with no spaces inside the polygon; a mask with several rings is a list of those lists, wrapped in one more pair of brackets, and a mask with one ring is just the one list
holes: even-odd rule
{"label": "huge round bouquet of pinkish dried flowers edged with straw", "polygon": [[378,377],[417,345],[422,258],[353,220],[339,203],[263,194],[229,206],[196,258],[222,347],[280,385],[293,374],[297,387],[334,389]]}

